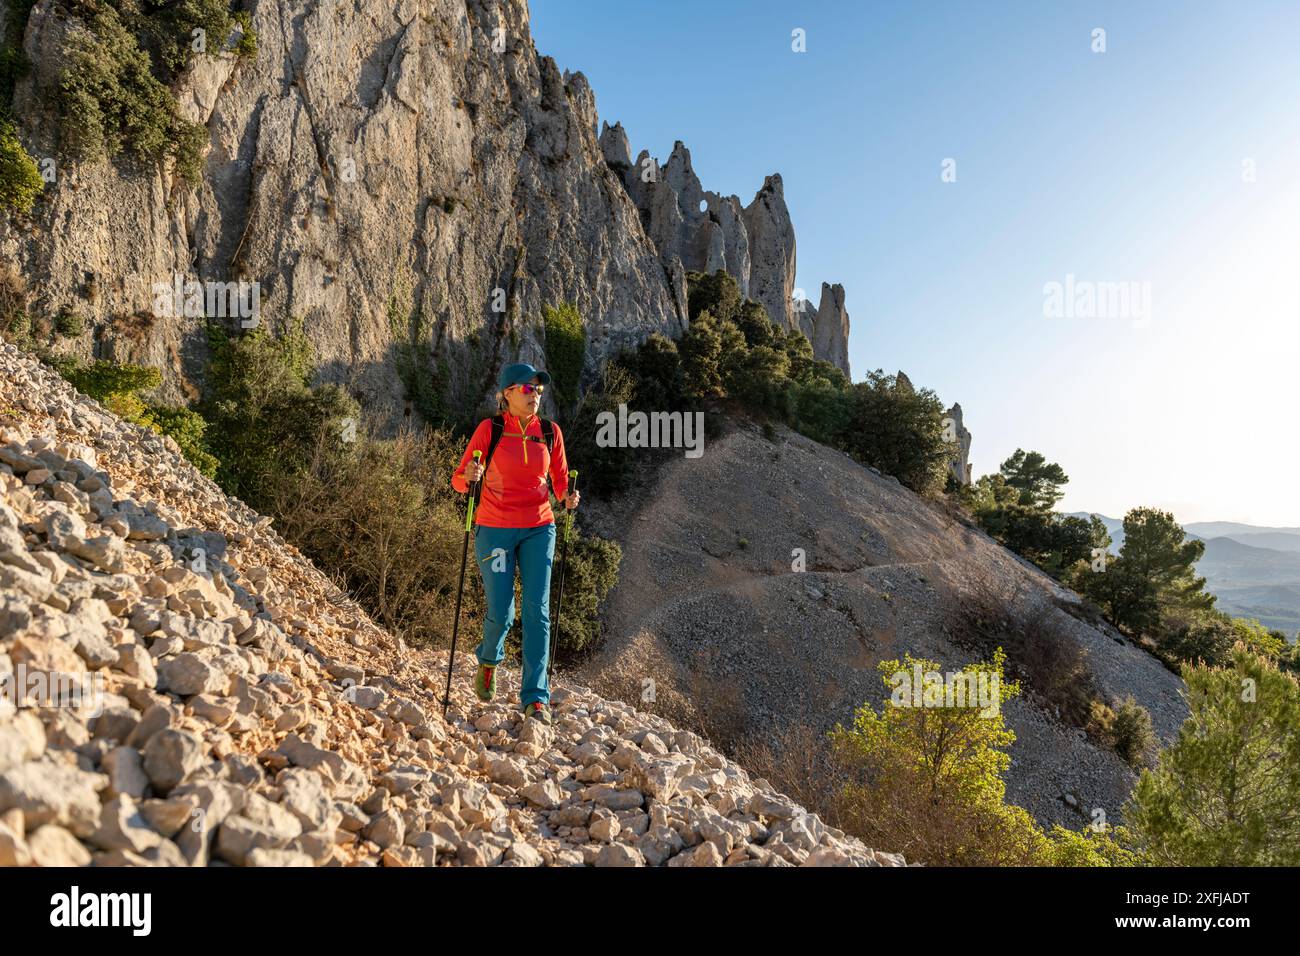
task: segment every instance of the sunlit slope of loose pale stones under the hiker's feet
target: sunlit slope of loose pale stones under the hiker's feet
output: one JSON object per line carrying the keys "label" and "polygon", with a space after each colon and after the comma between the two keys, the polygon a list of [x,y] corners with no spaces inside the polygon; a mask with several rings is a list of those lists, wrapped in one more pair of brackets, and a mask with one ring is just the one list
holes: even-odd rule
{"label": "sunlit slope of loose pale stones under the hiker's feet", "polygon": [[471,691],[0,343],[0,868],[893,866],[690,731]]}

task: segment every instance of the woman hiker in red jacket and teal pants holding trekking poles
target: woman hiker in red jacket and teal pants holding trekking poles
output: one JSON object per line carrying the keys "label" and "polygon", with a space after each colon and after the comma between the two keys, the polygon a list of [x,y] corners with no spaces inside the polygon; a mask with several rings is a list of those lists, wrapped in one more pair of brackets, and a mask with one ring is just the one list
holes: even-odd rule
{"label": "woman hiker in red jacket and teal pants holding trekking poles", "polygon": [[[506,656],[506,632],[515,620],[515,567],[523,588],[524,670],[520,682],[523,710],[542,723],[551,722],[551,689],[546,680],[550,653],[551,559],[555,555],[555,515],[550,486],[564,507],[576,509],[578,493],[568,489],[568,462],[559,425],[537,416],[542,389],[551,376],[529,364],[502,369],[497,407],[503,420],[497,447],[493,419],[474,429],[451,486],[462,494],[482,477],[474,511],[474,557],[484,578],[488,613],[478,644],[474,693],[480,700],[497,695],[497,666]],[[547,442],[547,432],[551,432]],[[547,447],[547,445],[552,447]],[[473,460],[474,451],[482,451]]]}

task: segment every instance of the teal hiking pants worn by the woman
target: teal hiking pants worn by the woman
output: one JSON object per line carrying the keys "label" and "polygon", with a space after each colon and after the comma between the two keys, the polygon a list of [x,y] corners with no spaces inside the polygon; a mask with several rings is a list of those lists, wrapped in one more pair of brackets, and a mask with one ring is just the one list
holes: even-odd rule
{"label": "teal hiking pants worn by the woman", "polygon": [[523,592],[524,669],[519,692],[521,705],[551,702],[546,662],[551,640],[551,561],[555,557],[555,524],[536,528],[490,528],[474,531],[474,557],[484,578],[488,613],[478,663],[500,663],[506,633],[515,623],[515,568]]}

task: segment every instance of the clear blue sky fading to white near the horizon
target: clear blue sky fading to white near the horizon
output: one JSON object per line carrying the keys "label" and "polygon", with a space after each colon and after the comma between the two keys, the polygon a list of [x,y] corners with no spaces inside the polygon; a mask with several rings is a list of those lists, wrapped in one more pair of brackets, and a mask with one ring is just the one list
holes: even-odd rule
{"label": "clear blue sky fading to white near the horizon", "polygon": [[[781,173],[797,285],[844,284],[854,377],[961,402],[976,475],[1032,447],[1069,510],[1300,525],[1300,3],[533,0],[532,21],[633,153],[681,139],[745,203]],[[1067,274],[1149,284],[1149,315],[1045,317]]]}

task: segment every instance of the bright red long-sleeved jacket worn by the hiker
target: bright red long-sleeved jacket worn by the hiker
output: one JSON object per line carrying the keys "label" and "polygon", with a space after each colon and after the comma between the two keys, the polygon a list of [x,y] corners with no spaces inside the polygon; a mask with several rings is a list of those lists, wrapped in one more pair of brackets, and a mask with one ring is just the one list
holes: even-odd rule
{"label": "bright red long-sleeved jacket worn by the hiker", "polygon": [[[474,510],[474,523],[489,528],[536,528],[555,520],[551,511],[550,492],[546,488],[546,475],[551,476],[555,497],[563,499],[568,492],[568,460],[564,457],[564,434],[560,427],[555,429],[555,454],[546,450],[542,438],[542,423],[533,415],[521,429],[520,420],[510,412],[503,412],[506,428],[502,431],[497,450],[482,476],[482,494]],[[532,436],[536,441],[521,436]],[[465,481],[465,466],[474,451],[482,451],[488,458],[491,444],[491,419],[484,419],[474,429],[460,466],[451,476],[451,486],[462,494],[469,490]]]}

